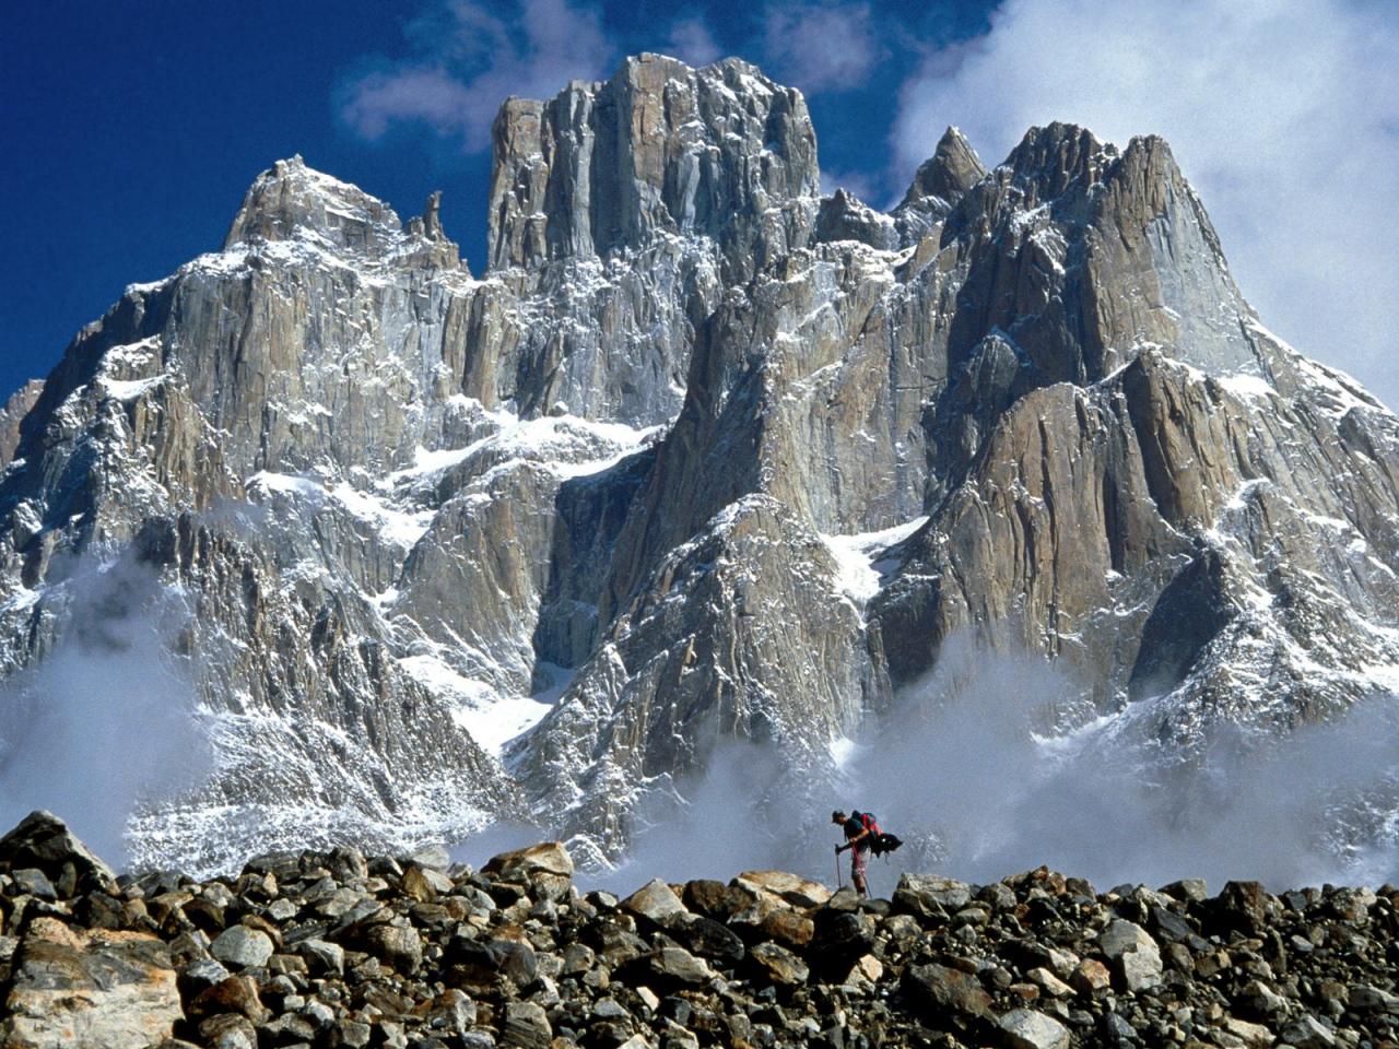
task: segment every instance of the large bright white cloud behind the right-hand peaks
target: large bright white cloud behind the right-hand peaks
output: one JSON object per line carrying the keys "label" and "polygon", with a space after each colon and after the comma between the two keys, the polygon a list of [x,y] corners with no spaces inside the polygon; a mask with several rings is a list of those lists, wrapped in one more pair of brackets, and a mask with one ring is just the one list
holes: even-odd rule
{"label": "large bright white cloud behind the right-hand peaks", "polygon": [[1360,0],[1006,0],[904,88],[902,176],[956,123],[988,161],[1069,120],[1158,133],[1265,323],[1399,407],[1399,25]]}

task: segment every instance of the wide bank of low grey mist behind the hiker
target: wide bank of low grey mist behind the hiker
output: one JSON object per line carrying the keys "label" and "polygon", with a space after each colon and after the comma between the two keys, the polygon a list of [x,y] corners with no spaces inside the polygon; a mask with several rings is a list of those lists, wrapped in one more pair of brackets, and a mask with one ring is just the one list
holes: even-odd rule
{"label": "wide bank of low grey mist behind the hiker", "polygon": [[634,848],[596,883],[627,892],[658,876],[767,867],[848,881],[832,808],[873,811],[905,841],[870,862],[879,895],[905,870],[983,884],[1041,864],[1100,890],[1182,877],[1213,891],[1230,878],[1272,890],[1399,881],[1392,698],[1281,736],[1220,725],[1185,754],[1150,732],[1165,701],[1084,722],[1067,713],[1083,694],[1042,659],[950,642],[839,759],[793,772],[775,751],[734,743],[697,782],[655,792]]}

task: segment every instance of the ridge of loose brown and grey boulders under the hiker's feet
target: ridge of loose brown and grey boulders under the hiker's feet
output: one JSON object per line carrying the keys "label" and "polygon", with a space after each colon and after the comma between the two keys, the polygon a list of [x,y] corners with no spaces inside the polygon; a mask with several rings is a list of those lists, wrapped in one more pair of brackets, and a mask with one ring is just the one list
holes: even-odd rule
{"label": "ridge of loose brown and grey boulders under the hiker's feet", "polygon": [[0,839],[4,1049],[1395,1045],[1399,890],[1100,894],[1046,869],[779,871],[582,892],[557,843],[480,871],[354,849],[113,877],[35,813]]}

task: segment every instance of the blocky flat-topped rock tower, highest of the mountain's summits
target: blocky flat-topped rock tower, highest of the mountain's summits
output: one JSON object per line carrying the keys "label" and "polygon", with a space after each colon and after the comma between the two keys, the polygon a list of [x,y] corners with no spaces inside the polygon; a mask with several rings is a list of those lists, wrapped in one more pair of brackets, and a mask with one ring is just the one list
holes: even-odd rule
{"label": "blocky flat-topped rock tower, highest of the mountain's summits", "polygon": [[816,197],[816,131],[802,94],[726,59],[695,70],[627,59],[548,102],[509,99],[494,126],[492,269],[606,257],[652,234],[704,235],[737,262],[768,208]]}

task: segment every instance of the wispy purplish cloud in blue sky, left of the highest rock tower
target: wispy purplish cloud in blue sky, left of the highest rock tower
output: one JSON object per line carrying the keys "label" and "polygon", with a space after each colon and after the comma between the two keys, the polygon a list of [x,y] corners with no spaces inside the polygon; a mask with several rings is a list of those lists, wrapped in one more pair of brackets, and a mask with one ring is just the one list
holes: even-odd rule
{"label": "wispy purplish cloud in blue sky, left of the highest rock tower", "polygon": [[371,141],[417,122],[484,150],[508,97],[553,98],[569,80],[603,76],[614,57],[586,3],[518,0],[504,15],[501,7],[456,0],[434,8],[410,27],[421,53],[347,85],[340,116]]}

